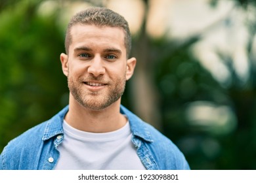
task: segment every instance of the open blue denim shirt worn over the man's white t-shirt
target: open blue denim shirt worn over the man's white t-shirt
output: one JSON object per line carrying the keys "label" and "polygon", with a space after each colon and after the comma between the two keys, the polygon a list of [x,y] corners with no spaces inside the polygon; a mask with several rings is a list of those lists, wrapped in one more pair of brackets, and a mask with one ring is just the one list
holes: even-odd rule
{"label": "open blue denim shirt worn over the man's white t-shirt", "polygon": [[[146,169],[190,169],[182,152],[167,137],[127,108],[121,106],[120,111],[129,119],[132,142]],[[58,145],[64,138],[62,122],[67,112],[68,106],[10,141],[1,153],[0,170],[54,169],[60,158]]]}

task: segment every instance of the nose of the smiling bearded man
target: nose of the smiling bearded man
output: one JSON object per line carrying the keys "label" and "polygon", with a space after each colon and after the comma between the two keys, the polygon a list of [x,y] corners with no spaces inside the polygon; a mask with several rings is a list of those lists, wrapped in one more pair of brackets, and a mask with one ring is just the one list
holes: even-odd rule
{"label": "nose of the smiling bearded man", "polygon": [[89,74],[94,75],[95,77],[104,75],[105,68],[102,65],[102,59],[100,56],[95,56],[95,58],[91,60],[87,71]]}

